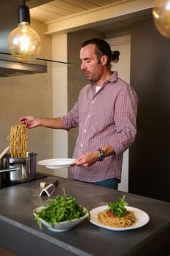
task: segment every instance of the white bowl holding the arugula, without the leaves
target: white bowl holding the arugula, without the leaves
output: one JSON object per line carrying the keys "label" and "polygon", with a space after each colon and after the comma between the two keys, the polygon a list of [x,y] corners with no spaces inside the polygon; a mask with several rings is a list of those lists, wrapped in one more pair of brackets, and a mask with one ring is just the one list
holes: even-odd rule
{"label": "white bowl holding the arugula, without the leaves", "polygon": [[[41,211],[42,208],[45,208],[45,206],[40,206],[36,209],[34,209],[34,211]],[[70,230],[72,227],[78,225],[80,222],[82,222],[83,219],[88,217],[88,210],[86,208],[84,208],[85,211],[87,211],[87,213],[85,214],[85,216],[81,217],[80,219],[72,219],[71,221],[66,221],[66,222],[59,222],[58,224],[55,224],[54,227],[52,227],[49,223],[45,222],[44,219],[39,218],[39,221],[42,222],[42,225],[45,225],[45,227],[47,227],[49,230],[55,231],[55,232],[63,232],[63,231],[67,231]],[[33,214],[36,217],[36,213]]]}

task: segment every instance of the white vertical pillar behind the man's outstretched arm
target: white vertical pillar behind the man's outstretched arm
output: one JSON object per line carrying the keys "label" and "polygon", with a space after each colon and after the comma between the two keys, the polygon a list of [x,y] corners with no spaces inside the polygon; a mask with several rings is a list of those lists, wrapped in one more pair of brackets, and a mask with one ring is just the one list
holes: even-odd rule
{"label": "white vertical pillar behind the man's outstretched arm", "polygon": [[[57,34],[52,37],[52,56],[58,61],[67,59],[67,34]],[[67,65],[53,63],[53,117],[67,113]],[[53,158],[68,157],[68,132],[53,129]],[[53,175],[67,178],[67,168],[53,170]]]}

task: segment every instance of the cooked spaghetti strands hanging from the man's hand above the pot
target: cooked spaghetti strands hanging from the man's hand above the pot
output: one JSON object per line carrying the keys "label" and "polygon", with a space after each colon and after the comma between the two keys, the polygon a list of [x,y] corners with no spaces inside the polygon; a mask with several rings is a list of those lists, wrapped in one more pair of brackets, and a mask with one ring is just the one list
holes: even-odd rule
{"label": "cooked spaghetti strands hanging from the man's hand above the pot", "polygon": [[25,158],[27,151],[27,130],[23,124],[14,124],[8,136],[12,158]]}

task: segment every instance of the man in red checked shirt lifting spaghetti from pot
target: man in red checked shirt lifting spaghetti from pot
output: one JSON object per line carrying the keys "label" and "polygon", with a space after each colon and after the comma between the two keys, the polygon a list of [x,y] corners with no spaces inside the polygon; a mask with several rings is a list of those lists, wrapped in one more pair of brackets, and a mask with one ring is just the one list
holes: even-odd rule
{"label": "man in red checked shirt lifting spaghetti from pot", "polygon": [[80,91],[72,110],[58,118],[20,118],[28,128],[79,127],[71,176],[112,189],[117,189],[121,181],[123,152],[134,142],[138,105],[134,89],[110,69],[111,61],[118,59],[119,52],[112,53],[106,41],[85,41],[80,60],[89,83]]}

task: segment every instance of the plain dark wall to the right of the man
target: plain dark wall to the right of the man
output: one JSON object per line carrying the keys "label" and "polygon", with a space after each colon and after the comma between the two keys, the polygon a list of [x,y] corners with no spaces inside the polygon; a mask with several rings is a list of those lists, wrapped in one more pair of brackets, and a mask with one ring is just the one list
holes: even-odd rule
{"label": "plain dark wall to the right of the man", "polygon": [[170,41],[153,21],[134,24],[131,84],[139,94],[138,132],[130,148],[129,192],[170,201]]}

